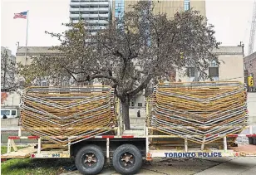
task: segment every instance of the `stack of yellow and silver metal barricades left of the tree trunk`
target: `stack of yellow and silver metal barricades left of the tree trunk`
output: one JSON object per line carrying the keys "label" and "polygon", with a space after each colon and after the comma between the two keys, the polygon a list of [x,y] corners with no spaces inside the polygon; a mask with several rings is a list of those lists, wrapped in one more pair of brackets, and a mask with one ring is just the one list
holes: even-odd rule
{"label": "stack of yellow and silver metal barricades left of the tree trunk", "polygon": [[115,125],[110,86],[30,87],[22,95],[22,128],[60,145],[104,134]]}

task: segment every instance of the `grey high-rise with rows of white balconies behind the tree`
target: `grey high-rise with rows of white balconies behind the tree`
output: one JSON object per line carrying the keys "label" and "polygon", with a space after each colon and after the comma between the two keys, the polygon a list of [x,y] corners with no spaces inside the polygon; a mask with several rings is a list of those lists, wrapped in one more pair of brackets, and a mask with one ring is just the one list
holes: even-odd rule
{"label": "grey high-rise with rows of white balconies behind the tree", "polygon": [[105,29],[111,20],[111,2],[109,0],[71,0],[70,20],[77,23],[85,20],[91,34]]}

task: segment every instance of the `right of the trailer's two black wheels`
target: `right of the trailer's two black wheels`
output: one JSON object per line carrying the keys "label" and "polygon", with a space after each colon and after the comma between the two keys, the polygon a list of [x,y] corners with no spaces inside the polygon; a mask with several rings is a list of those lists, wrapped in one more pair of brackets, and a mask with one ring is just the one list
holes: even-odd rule
{"label": "right of the trailer's two black wheels", "polygon": [[118,173],[135,174],[140,170],[142,156],[140,150],[132,144],[123,144],[113,153],[113,166]]}

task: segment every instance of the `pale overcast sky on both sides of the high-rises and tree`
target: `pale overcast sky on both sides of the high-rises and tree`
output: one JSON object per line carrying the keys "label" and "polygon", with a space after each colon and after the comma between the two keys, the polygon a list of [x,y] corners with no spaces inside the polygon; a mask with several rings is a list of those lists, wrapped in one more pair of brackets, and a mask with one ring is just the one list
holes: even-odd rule
{"label": "pale overcast sky on both sides of the high-rises and tree", "polygon": [[[47,32],[64,32],[62,23],[69,21],[70,0],[1,0],[1,46],[15,55],[19,46],[56,46],[56,38]],[[206,0],[206,17],[214,25],[221,46],[237,46],[244,42],[248,52],[249,32],[253,15],[253,0]],[[13,19],[14,13],[28,12],[26,19]],[[256,44],[255,44],[256,45]],[[256,46],[254,46],[256,51]]]}

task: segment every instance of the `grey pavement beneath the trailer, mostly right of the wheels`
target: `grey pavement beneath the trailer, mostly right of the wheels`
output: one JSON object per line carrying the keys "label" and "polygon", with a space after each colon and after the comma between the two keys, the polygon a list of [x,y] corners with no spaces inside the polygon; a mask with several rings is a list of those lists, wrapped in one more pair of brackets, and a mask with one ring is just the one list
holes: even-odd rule
{"label": "grey pavement beneath the trailer, mostly right of the wheels", "polygon": [[[101,175],[118,175],[114,168],[104,168]],[[144,163],[140,175],[253,175],[256,158],[155,158]],[[61,175],[81,175],[78,171]]]}

